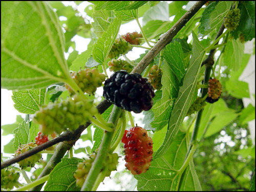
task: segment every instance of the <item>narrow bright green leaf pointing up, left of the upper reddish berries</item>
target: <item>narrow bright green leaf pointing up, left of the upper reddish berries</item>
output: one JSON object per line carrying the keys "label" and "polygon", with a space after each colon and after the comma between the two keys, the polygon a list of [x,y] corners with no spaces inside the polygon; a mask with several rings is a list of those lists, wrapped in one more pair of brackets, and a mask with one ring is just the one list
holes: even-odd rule
{"label": "narrow bright green leaf pointing up, left of the upper reddish berries", "polygon": [[104,63],[108,54],[114,44],[116,36],[118,34],[121,18],[115,18],[110,24],[108,30],[106,30],[101,37],[97,40],[96,44],[93,47],[93,58],[99,62]]}

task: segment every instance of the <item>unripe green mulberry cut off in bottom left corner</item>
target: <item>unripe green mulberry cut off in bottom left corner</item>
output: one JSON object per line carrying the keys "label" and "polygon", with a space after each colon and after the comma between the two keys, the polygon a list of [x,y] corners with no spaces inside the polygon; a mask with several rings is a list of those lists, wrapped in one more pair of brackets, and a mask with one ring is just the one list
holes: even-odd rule
{"label": "unripe green mulberry cut off in bottom left corner", "polygon": [[18,184],[19,173],[15,169],[1,169],[1,188],[13,189],[14,185]]}

